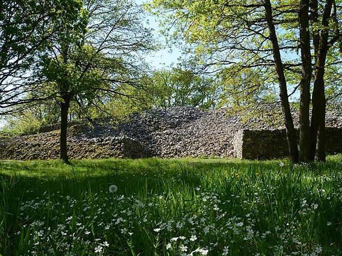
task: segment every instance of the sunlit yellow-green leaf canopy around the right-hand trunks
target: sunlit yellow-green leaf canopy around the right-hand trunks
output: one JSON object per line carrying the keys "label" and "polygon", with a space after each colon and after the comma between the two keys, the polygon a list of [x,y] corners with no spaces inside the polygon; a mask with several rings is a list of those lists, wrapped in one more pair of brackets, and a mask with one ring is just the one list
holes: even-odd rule
{"label": "sunlit yellow-green leaf canopy around the right-hand trunks", "polygon": [[[274,24],[278,32],[281,61],[288,86],[290,86],[289,93],[292,93],[292,89],[301,79],[301,56],[298,43],[300,41],[298,39],[300,3],[292,0],[271,1],[271,5]],[[265,8],[261,2],[254,0],[238,3],[236,1],[153,0],[146,8],[160,18],[164,34],[171,42],[179,45],[182,42],[179,39],[182,38],[185,42],[184,52],[190,48],[191,53],[200,59],[200,63],[210,67],[212,71],[234,69],[249,72],[248,70],[252,69],[257,70],[258,74],[263,74],[263,81],[267,84],[273,85],[277,82],[272,61],[273,50],[265,20]],[[318,8],[317,20],[310,21],[311,36],[315,32],[329,31],[329,40],[334,44],[328,46],[325,81],[328,99],[340,99],[341,11],[333,4],[329,18],[330,26],[327,28],[323,25],[324,5],[318,5]],[[310,18],[313,19],[313,16]],[[173,33],[169,33],[170,31]],[[238,77],[241,77],[241,74],[237,74],[236,78]],[[312,77],[314,79],[315,76]],[[234,78],[232,77],[232,80]],[[256,81],[252,83],[259,81],[258,77],[255,79]],[[246,100],[253,95],[250,92],[253,91],[251,83],[244,84],[235,81],[233,84],[235,85],[233,88],[228,87],[223,90],[229,95],[241,96]],[[239,90],[236,90],[237,85],[241,87]],[[257,91],[254,92],[256,96]],[[260,95],[262,96],[263,93],[264,91],[261,90]],[[244,104],[243,100],[240,101],[229,102],[229,104]]]}

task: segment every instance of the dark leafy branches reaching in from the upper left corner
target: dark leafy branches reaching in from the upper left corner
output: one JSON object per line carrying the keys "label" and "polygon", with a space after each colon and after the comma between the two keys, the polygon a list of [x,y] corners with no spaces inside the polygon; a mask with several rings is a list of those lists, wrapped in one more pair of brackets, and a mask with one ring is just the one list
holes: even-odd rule
{"label": "dark leafy branches reaching in from the upper left corner", "polygon": [[[2,1],[0,2],[0,108],[2,114],[10,106],[25,104],[32,99],[26,94],[39,88],[34,83],[37,53],[49,47],[48,40],[59,30],[57,20],[70,20],[77,0],[68,1]],[[42,98],[37,100],[46,99]],[[18,110],[18,107],[16,108]]]}

